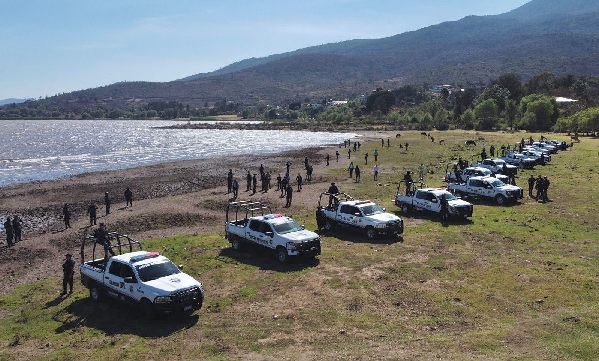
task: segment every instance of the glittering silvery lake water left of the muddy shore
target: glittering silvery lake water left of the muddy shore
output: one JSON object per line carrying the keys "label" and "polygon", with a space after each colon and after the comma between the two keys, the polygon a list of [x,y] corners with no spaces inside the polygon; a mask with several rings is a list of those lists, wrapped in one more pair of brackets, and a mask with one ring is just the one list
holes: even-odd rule
{"label": "glittering silvery lake water left of the muddy shore", "polygon": [[0,120],[0,186],[170,161],[330,146],[358,134],[156,129],[186,121]]}

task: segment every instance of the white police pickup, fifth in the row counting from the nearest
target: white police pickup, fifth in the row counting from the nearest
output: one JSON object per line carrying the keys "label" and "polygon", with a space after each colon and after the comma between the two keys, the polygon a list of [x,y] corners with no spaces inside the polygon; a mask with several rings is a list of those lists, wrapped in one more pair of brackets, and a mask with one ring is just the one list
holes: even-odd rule
{"label": "white police pickup, fifth in the row counting from the nearest", "polygon": [[522,188],[509,185],[494,177],[474,176],[464,183],[449,183],[447,190],[457,197],[479,197],[494,199],[498,204],[522,198]]}

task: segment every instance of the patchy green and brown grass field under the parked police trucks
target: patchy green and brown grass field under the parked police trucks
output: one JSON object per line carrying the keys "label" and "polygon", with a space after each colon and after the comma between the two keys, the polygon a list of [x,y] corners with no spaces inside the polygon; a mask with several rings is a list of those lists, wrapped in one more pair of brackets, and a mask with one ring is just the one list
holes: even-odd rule
{"label": "patchy green and brown grass field under the parked police trucks", "polygon": [[[441,185],[452,158],[470,160],[482,144],[499,148],[530,134],[434,133],[445,146],[417,132],[402,133],[407,153],[398,139],[383,151],[380,142],[363,144],[356,161],[362,167],[369,152],[370,163],[362,182],[341,189],[404,218],[403,239],[326,235],[322,255],[289,264],[257,249],[234,252],[222,233],[146,240],[144,248],[161,249],[205,282],[200,311],[146,320],[131,306],[93,303],[80,284],[63,300],[59,280],[44,279],[0,297],[0,360],[596,360],[599,140],[582,137],[547,166],[519,173],[520,186],[531,174],[549,177],[547,203],[474,200],[471,219],[441,224],[394,206],[405,170],[422,162],[434,172],[425,182]],[[464,148],[476,137],[485,142]],[[389,186],[370,180],[374,149],[379,181]],[[316,203],[294,209],[310,229]]]}

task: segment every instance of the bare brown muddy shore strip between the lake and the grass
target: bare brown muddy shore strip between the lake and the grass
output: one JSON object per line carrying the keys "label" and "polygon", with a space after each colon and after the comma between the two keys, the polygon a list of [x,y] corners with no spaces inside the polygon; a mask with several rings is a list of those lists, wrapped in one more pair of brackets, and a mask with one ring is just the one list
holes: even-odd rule
{"label": "bare brown muddy shore strip between the lake and the grass", "polygon": [[[361,132],[361,143],[395,137],[395,133]],[[352,140],[353,141],[353,140]],[[335,162],[335,151],[340,152],[339,163]],[[192,160],[138,167],[135,169],[85,173],[68,179],[23,183],[0,188],[0,216],[19,215],[23,219],[23,241],[8,247],[2,231],[0,244],[0,294],[5,294],[17,285],[28,284],[40,279],[58,277],[62,274],[62,263],[67,252],[80,261],[80,246],[83,237],[91,234],[95,226],[90,225],[87,206],[94,202],[98,207],[98,224],[105,222],[108,230],[128,234],[134,239],[168,237],[178,233],[205,233],[223,230],[225,206],[232,200],[226,193],[226,173],[232,169],[240,184],[237,200],[262,201],[287,215],[313,212],[318,196],[328,189],[330,182],[343,184],[352,182],[347,173],[325,176],[326,154],[331,155],[329,167],[347,167],[347,149],[323,148],[301,149],[274,155],[247,155],[245,157]],[[304,157],[308,157],[314,168],[313,180],[305,180]],[[362,164],[364,156],[358,152],[352,157]],[[373,157],[374,158],[374,157]],[[371,161],[373,161],[371,158]],[[292,206],[283,208],[285,198],[275,191],[276,176],[285,175],[285,162],[291,165],[290,175],[294,193]],[[262,164],[265,171],[273,173],[268,192],[246,191],[245,173],[258,173]],[[370,167],[370,166],[369,166]],[[362,171],[366,173],[365,170]],[[295,177],[304,177],[301,192],[295,192]],[[123,192],[129,187],[134,193],[133,206],[125,206]],[[105,215],[104,192],[113,202],[111,214]],[[62,206],[71,206],[71,226],[65,229],[62,221]],[[77,275],[75,275],[77,277]],[[75,279],[77,282],[77,279]],[[57,292],[60,285],[56,285]]]}

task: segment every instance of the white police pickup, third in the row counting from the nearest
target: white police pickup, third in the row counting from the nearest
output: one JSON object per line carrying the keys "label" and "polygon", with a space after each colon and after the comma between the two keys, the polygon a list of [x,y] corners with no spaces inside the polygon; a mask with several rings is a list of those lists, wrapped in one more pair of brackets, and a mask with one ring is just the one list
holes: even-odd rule
{"label": "white police pickup, third in the row counting from the nearest", "polygon": [[[329,201],[329,206],[323,203]],[[347,228],[366,234],[368,239],[377,236],[398,236],[404,232],[404,221],[370,200],[355,200],[346,193],[322,193],[319,206],[325,216],[325,230]]]}

